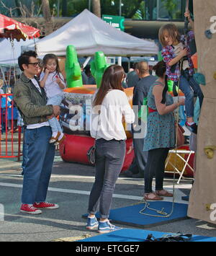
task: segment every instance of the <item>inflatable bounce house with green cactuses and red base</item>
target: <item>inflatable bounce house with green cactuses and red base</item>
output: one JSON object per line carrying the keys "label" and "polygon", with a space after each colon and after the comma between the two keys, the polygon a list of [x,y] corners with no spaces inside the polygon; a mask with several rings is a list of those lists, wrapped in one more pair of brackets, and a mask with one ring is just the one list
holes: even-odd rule
{"label": "inflatable bounce house with green cactuses and red base", "polygon": [[[104,53],[101,51],[94,54],[91,61],[91,74],[94,76],[96,85],[83,84],[81,78],[81,67],[78,63],[76,49],[68,45],[66,50],[66,80],[70,97],[66,97],[61,105],[60,125],[66,134],[66,139],[60,144],[60,156],[66,162],[78,162],[89,164],[86,153],[94,144],[91,138],[91,99],[99,88],[104,70],[107,68]],[[128,100],[132,106],[132,90],[125,89]],[[132,148],[132,134],[126,131],[127,149],[125,162],[122,170],[128,169],[134,156]]]}

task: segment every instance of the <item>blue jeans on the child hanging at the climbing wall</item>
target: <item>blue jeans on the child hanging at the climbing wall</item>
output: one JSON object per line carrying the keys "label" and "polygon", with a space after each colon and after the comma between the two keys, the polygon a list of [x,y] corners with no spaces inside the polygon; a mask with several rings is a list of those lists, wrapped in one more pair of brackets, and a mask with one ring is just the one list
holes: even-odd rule
{"label": "blue jeans on the child hanging at the climbing wall", "polygon": [[194,80],[193,76],[189,76],[186,71],[180,76],[179,88],[184,92],[186,117],[194,117],[194,93],[199,97],[200,108],[202,106],[203,94],[202,90]]}

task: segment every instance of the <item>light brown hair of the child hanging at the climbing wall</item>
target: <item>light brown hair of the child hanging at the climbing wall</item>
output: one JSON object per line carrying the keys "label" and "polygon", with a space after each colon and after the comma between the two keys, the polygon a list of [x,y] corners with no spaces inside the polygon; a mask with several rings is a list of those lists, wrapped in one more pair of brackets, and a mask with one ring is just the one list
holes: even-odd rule
{"label": "light brown hair of the child hanging at the climbing wall", "polygon": [[180,42],[181,35],[179,33],[178,28],[176,27],[176,25],[169,23],[169,24],[163,25],[158,32],[158,38],[163,47],[167,45],[164,39],[165,32],[168,33],[168,35],[172,38],[173,41],[177,40],[178,42]]}

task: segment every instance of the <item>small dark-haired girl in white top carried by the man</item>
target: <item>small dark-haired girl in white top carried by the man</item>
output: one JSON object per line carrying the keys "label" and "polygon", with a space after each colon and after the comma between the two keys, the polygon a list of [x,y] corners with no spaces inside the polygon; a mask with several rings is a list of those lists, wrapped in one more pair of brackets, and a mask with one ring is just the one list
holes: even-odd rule
{"label": "small dark-haired girl in white top carried by the man", "polygon": [[[40,86],[44,87],[48,97],[47,105],[60,105],[64,99],[63,89],[66,83],[63,75],[60,73],[58,58],[55,54],[46,54],[42,60],[43,71],[40,74]],[[50,143],[60,144],[65,138],[57,118],[49,118],[48,122],[52,129]]]}

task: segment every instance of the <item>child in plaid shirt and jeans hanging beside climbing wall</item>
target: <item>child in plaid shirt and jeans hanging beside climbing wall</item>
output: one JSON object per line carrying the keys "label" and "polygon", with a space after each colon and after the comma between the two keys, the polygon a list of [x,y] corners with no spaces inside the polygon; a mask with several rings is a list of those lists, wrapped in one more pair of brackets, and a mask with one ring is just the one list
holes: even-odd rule
{"label": "child in plaid shirt and jeans hanging beside climbing wall", "polygon": [[[189,23],[194,27],[189,12],[185,12]],[[158,33],[163,49],[161,55],[166,62],[166,75],[168,79],[179,81],[179,88],[184,92],[186,125],[197,134],[197,124],[194,122],[194,93],[199,97],[200,107],[202,106],[203,94],[197,81],[194,80],[194,65],[188,43],[194,39],[194,32],[189,31],[186,36],[180,35],[174,24],[166,24],[160,28]]]}

